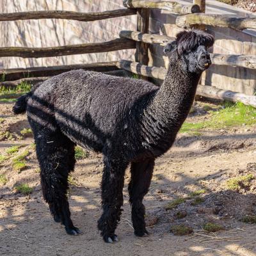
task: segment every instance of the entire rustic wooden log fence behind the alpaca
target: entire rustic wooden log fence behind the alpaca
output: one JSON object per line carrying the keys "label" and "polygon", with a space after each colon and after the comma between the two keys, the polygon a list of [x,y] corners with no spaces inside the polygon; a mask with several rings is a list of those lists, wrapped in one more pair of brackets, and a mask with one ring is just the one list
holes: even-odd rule
{"label": "entire rustic wooden log fence behind the alpaca", "polygon": [[[125,9],[97,13],[77,13],[66,11],[38,11],[0,13],[0,22],[8,20],[27,19],[70,19],[79,21],[93,21],[122,17],[125,15],[137,15],[137,31],[120,31],[120,38],[109,42],[88,43],[76,45],[64,45],[58,47],[0,47],[0,57],[19,56],[22,58],[42,58],[52,56],[64,56],[70,54],[84,54],[92,52],[118,51],[121,49],[136,49],[136,61],[120,60],[108,63],[93,63],[85,65],[66,65],[58,67],[36,67],[36,68],[12,68],[0,70],[0,76],[4,75],[5,82],[2,86],[15,86],[20,81],[36,83],[44,81],[50,76],[66,72],[68,70],[83,68],[84,70],[95,70],[99,72],[114,72],[118,69],[128,70],[139,74],[143,79],[154,77],[164,79],[166,69],[160,67],[148,67],[148,45],[165,45],[174,38],[164,35],[150,35],[148,33],[149,10],[161,9],[172,13],[178,13],[175,24],[180,28],[200,28],[205,26],[218,26],[232,29],[256,29],[256,18],[234,17],[230,15],[205,14],[205,0],[194,0],[194,4],[180,4],[175,1],[142,1],[124,0]],[[212,63],[215,65],[230,65],[234,67],[245,67],[256,69],[256,56],[211,54]],[[23,78],[26,76],[29,78]],[[33,76],[33,77],[31,77]],[[22,79],[22,80],[20,80]],[[243,102],[256,107],[256,96],[244,95],[231,91],[220,90],[214,86],[199,85],[197,95],[232,102]]]}

